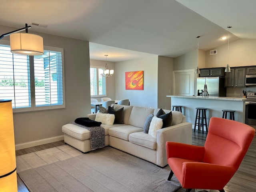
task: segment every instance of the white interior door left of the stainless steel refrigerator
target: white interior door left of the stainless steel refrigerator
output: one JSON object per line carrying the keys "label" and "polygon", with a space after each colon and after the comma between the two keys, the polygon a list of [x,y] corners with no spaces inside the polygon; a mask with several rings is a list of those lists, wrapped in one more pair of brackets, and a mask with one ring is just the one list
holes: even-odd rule
{"label": "white interior door left of the stainless steel refrigerator", "polygon": [[194,95],[195,72],[191,70],[173,71],[173,95]]}

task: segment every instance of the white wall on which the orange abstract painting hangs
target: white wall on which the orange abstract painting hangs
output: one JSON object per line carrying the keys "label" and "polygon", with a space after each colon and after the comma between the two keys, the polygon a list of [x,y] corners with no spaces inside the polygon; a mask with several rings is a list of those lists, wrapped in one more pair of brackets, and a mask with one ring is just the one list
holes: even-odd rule
{"label": "white wall on which the orange abstract painting hangs", "polygon": [[[126,90],[125,72],[144,71],[144,90]],[[130,105],[157,108],[158,56],[116,62],[116,100],[129,99]]]}

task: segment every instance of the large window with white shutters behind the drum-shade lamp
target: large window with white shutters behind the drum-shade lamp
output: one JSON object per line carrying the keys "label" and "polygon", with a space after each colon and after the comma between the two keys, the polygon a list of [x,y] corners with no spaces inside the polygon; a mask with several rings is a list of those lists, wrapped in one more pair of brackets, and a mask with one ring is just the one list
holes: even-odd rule
{"label": "large window with white shutters behind the drum-shade lamp", "polygon": [[14,112],[65,107],[63,49],[44,49],[25,56],[0,44],[0,99],[12,99]]}

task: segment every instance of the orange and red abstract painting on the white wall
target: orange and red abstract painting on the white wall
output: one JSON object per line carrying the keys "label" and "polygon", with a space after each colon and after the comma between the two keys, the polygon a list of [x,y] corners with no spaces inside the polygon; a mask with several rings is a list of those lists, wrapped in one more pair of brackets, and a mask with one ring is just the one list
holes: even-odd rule
{"label": "orange and red abstract painting on the white wall", "polygon": [[126,90],[143,90],[143,71],[125,72]]}

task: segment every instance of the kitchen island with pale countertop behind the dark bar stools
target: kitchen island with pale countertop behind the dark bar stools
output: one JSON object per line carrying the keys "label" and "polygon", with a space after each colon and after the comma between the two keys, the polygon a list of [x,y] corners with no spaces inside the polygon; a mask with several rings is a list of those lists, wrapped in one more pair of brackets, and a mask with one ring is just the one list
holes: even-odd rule
{"label": "kitchen island with pale countertop behind the dark bar stools", "polygon": [[[222,118],[222,110],[234,110],[236,111],[235,120],[244,123],[245,122],[245,102],[246,98],[237,97],[211,97],[211,96],[178,96],[167,95],[171,98],[172,105],[181,105],[182,112],[186,116],[186,121],[193,124],[196,119],[196,108],[204,107],[206,110],[207,124],[211,117]],[[227,116],[229,118],[229,114]]]}

